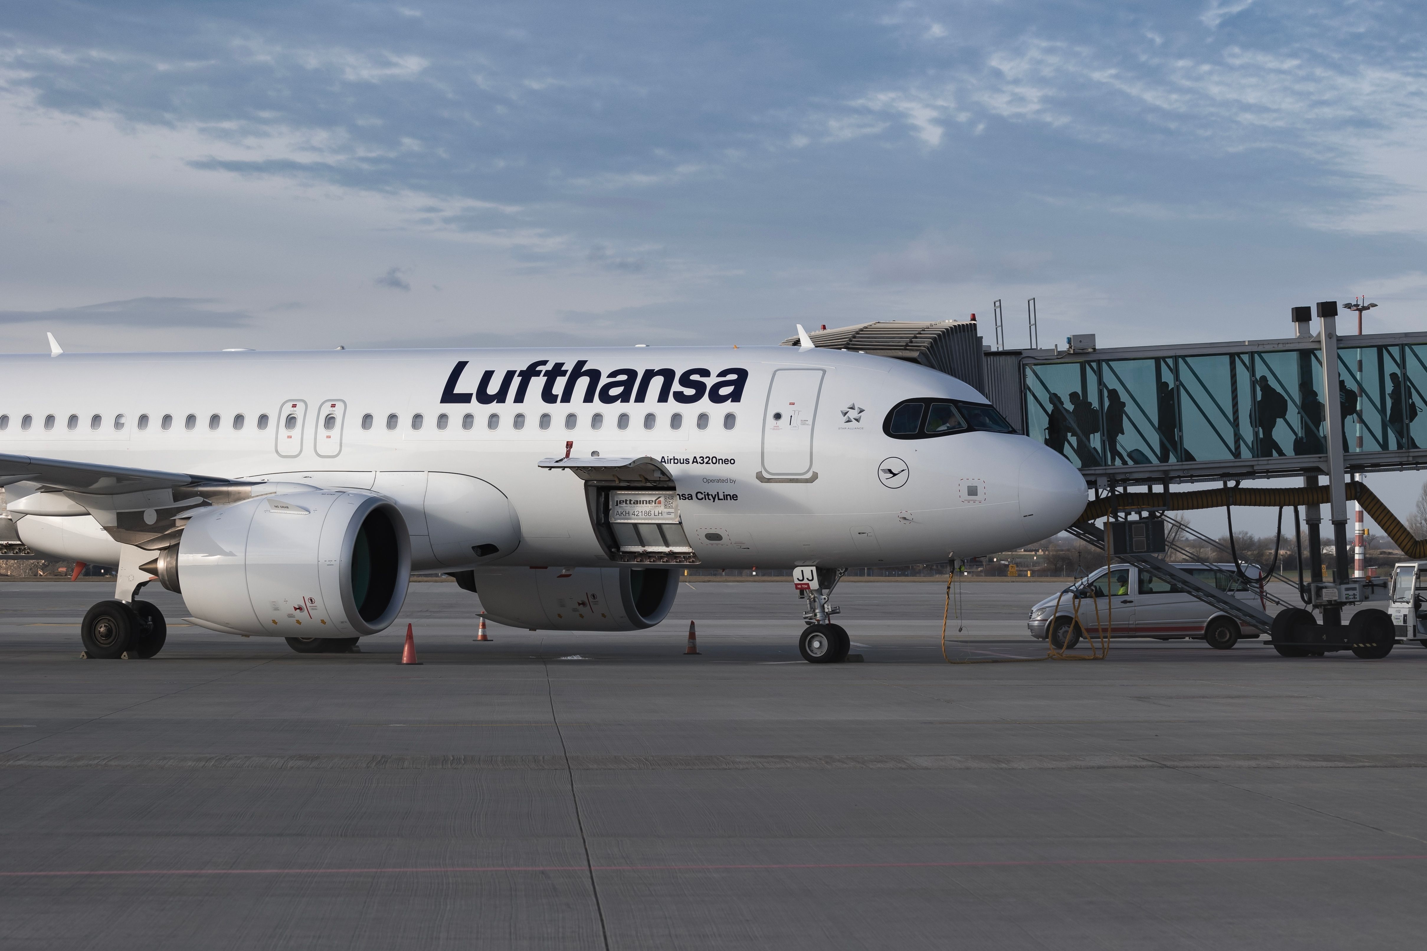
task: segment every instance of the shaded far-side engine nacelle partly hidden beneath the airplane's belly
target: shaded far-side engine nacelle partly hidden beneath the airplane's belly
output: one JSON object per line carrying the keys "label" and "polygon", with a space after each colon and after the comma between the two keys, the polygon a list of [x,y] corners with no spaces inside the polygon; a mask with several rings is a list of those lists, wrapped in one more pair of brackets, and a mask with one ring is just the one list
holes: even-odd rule
{"label": "shaded far-side engine nacelle partly hidden beneath the airplane's belly", "polygon": [[641,630],[674,607],[669,567],[478,567],[471,572],[485,616],[539,630]]}

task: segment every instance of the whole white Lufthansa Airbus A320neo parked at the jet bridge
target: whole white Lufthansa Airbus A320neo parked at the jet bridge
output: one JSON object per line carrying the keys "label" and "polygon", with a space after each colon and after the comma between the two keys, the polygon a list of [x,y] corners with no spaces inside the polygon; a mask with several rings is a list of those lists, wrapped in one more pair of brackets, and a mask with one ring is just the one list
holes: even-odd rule
{"label": "whole white Lufthansa Airbus A320neo parked at the jet bridge", "polygon": [[796,569],[812,663],[849,567],[969,557],[1083,510],[1060,453],[933,369],[801,346],[0,356],[0,542],[116,569],[84,656],[163,613],[350,650],[412,572],[531,630],[639,630],[689,567]]}

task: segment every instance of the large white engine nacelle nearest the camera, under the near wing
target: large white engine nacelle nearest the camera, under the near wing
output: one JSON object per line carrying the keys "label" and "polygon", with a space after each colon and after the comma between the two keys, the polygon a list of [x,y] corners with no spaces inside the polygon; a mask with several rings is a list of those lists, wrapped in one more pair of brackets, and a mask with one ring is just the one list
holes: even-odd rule
{"label": "large white engine nacelle nearest the camera, under the near wing", "polygon": [[194,512],[148,566],[194,620],[274,637],[375,634],[411,577],[407,522],[367,492],[290,492]]}

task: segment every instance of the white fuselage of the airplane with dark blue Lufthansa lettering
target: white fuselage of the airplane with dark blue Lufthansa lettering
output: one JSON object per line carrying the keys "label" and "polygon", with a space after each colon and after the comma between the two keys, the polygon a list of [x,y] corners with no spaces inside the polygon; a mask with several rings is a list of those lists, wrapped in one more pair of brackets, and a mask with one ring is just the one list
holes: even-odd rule
{"label": "white fuselage of the airplane with dark blue Lufthansa lettering", "polygon": [[[571,369],[582,375],[571,381]],[[775,381],[781,369],[812,372]],[[0,453],[374,489],[407,516],[415,570],[459,567],[425,543],[424,506],[440,503],[427,499],[428,473],[474,476],[509,499],[519,543],[494,563],[609,565],[584,482],[537,465],[567,455],[567,442],[575,456],[662,462],[708,567],[975,556],[1053,535],[1085,505],[1079,472],[1025,436],[886,435],[899,401],[986,401],[943,374],[842,351],[63,354],[3,356],[0,374]],[[31,546],[106,563],[94,557],[108,550],[103,530],[81,522],[90,516],[31,512],[19,522]],[[30,518],[40,522],[26,532]]]}

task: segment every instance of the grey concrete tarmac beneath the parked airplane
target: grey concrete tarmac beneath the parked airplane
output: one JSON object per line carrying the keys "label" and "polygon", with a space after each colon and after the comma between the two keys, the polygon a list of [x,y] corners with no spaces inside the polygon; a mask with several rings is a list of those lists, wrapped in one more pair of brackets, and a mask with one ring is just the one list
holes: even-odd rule
{"label": "grey concrete tarmac beneath the parked airplane", "polygon": [[[953,657],[1053,585],[968,583]],[[791,585],[652,630],[415,583],[361,653],[181,626],[80,660],[101,585],[0,585],[0,947],[1416,948],[1427,650],[1243,642],[950,666],[942,586]],[[701,654],[684,656],[689,619]],[[422,666],[402,667],[414,623]]]}

